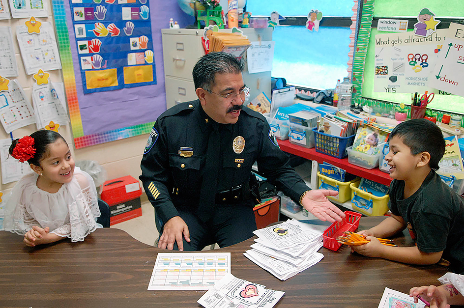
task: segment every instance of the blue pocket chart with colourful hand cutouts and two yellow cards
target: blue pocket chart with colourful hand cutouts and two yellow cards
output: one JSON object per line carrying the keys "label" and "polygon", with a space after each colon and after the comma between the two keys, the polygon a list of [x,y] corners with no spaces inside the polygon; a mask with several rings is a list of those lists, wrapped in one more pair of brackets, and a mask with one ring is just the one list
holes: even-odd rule
{"label": "blue pocket chart with colourful hand cutouts and two yellow cards", "polygon": [[148,0],[69,0],[84,93],[156,84]]}

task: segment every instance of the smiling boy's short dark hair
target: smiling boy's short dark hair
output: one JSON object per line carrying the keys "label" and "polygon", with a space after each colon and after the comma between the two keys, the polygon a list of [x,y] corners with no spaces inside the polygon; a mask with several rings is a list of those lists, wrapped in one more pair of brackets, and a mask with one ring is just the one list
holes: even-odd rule
{"label": "smiling boy's short dark hair", "polygon": [[438,170],[438,162],[445,153],[445,140],[441,130],[434,122],[426,119],[412,119],[398,124],[390,134],[401,138],[411,149],[412,155],[429,152],[429,167]]}

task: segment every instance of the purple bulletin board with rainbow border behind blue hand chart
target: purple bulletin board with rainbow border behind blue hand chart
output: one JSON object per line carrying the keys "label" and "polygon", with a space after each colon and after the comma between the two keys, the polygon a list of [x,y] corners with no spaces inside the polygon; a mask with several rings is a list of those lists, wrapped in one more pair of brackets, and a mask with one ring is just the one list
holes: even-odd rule
{"label": "purple bulletin board with rainbow border behind blue hand chart", "polygon": [[[137,37],[137,42],[139,42],[141,36],[148,38],[146,46],[142,46],[146,47],[146,49],[139,50],[140,48],[138,48],[137,50],[129,50],[120,57],[120,59],[122,58],[124,61],[124,65],[121,65],[121,67],[123,69],[130,69],[132,66],[131,63],[129,63],[129,61],[131,61],[131,56],[128,55],[131,53],[143,52],[145,62],[143,66],[152,66],[153,82],[149,82],[142,86],[123,87],[120,89],[111,88],[105,91],[84,91],[86,80],[83,78],[85,73],[83,74],[82,71],[86,70],[82,70],[81,67],[82,62],[78,53],[78,40],[86,41],[87,39],[76,38],[75,31],[79,30],[75,28],[76,23],[73,23],[73,16],[71,16],[73,12],[71,6],[74,6],[72,1],[53,0],[52,4],[57,28],[58,48],[61,56],[63,80],[75,147],[82,148],[149,133],[156,118],[166,110],[160,29],[169,27],[169,18],[171,17],[178,21],[183,27],[193,23],[193,17],[182,12],[175,1],[170,5],[166,5],[166,2],[161,0],[150,0],[150,2],[148,2],[148,0],[137,0],[137,2],[133,0],[82,0],[82,2],[84,3],[74,4],[78,4],[78,7],[92,7],[94,8],[94,13],[97,14],[98,5],[103,5],[104,7],[114,5],[119,7],[121,13],[122,7],[138,7],[138,16],[144,16],[145,18],[145,15],[140,15],[142,12],[141,7],[145,5],[149,8],[148,20],[150,23],[149,26],[147,26],[149,29],[146,27],[145,29],[141,29],[144,33],[139,33],[140,35],[133,33],[133,36]],[[127,4],[128,2],[129,4]],[[132,10],[130,13],[130,17],[128,18],[131,18],[131,20],[117,21],[116,19],[112,19],[108,22],[103,21],[101,23],[107,29],[110,28],[109,32],[113,27],[110,27],[110,24],[113,23],[116,28],[120,30],[120,34],[124,33],[124,36],[127,36],[124,32],[124,28],[127,27],[126,23],[132,22],[134,25],[136,24],[136,20],[132,20],[135,14],[132,15]],[[97,15],[94,14],[94,17],[96,18]],[[141,18],[140,20],[144,19]],[[85,24],[86,31],[89,30],[89,33],[94,33],[93,29],[96,28],[95,23],[97,22],[100,21],[98,19],[88,23],[84,21],[84,23],[78,23],[78,25]],[[90,25],[93,26],[91,29]],[[137,25],[135,25],[135,28],[137,28]],[[129,31],[129,29],[127,29],[127,31]],[[79,35],[79,32],[77,33]],[[89,35],[92,35],[91,33]],[[109,39],[111,43],[113,41],[111,41],[112,38],[110,33],[108,33],[104,39]],[[151,35],[151,37],[148,37],[146,34]],[[92,37],[91,39],[94,38],[96,37]],[[91,41],[91,39],[88,40]],[[103,38],[100,40],[102,41]],[[145,51],[147,50],[153,52],[152,63],[148,63],[149,61],[145,59]],[[135,61],[137,61],[137,57],[139,56],[134,56],[136,56]],[[140,57],[139,59],[142,60]],[[89,60],[92,61],[93,58]],[[97,64],[104,65],[103,63],[104,62],[100,62]],[[137,66],[137,62],[134,63],[134,66]],[[107,62],[107,68],[109,65],[110,63]],[[89,71],[92,70],[93,69],[89,69]],[[123,76],[123,74],[121,74],[121,76]],[[119,78],[119,75],[117,78]],[[156,84],[154,81],[156,81]]]}

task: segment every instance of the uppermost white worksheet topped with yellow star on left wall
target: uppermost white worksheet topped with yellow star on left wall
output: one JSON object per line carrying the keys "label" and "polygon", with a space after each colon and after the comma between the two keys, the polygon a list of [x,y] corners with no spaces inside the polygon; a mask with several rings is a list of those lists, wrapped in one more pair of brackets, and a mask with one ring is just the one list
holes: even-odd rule
{"label": "uppermost white worksheet topped with yellow star on left wall", "polygon": [[16,27],[26,74],[35,74],[40,68],[47,71],[60,69],[61,62],[52,24],[42,22],[39,33],[29,33],[29,28],[26,25]]}

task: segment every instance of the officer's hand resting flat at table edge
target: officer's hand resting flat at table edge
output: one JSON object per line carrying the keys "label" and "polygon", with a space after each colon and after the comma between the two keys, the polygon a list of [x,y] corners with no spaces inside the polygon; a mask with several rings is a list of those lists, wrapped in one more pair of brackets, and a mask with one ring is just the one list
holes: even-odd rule
{"label": "officer's hand resting flat at table edge", "polygon": [[190,243],[190,233],[188,226],[180,216],[175,216],[168,220],[163,227],[163,234],[158,241],[158,248],[173,250],[174,242],[177,242],[179,252],[184,250],[182,235]]}

